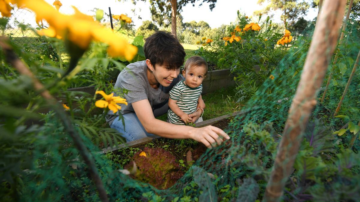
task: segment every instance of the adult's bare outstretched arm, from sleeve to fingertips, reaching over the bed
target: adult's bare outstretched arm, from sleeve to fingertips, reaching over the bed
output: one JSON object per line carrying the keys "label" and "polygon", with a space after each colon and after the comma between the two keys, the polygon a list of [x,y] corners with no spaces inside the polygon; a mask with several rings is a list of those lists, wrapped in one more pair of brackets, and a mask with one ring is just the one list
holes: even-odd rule
{"label": "adult's bare outstretched arm, from sleeve to fingertips, reaching over the bed", "polygon": [[191,138],[202,142],[206,147],[212,148],[223,142],[222,138],[230,137],[220,128],[211,125],[203,128],[193,128],[185,125],[176,125],[158,120],[154,117],[148,100],[140,100],[131,103],[140,123],[148,133],[156,134],[166,138],[185,139]]}

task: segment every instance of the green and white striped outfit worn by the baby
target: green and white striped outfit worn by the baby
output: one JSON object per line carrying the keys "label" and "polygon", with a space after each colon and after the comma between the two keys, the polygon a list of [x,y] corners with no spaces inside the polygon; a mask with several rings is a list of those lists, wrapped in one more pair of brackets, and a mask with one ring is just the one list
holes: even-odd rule
{"label": "green and white striped outfit worn by the baby", "polygon": [[[180,81],[172,87],[169,97],[177,100],[176,104],[185,114],[193,114],[198,105],[199,97],[202,93],[202,84],[197,88],[190,88],[184,84],[185,80]],[[171,109],[167,111],[167,119],[170,123],[185,125],[179,116]]]}

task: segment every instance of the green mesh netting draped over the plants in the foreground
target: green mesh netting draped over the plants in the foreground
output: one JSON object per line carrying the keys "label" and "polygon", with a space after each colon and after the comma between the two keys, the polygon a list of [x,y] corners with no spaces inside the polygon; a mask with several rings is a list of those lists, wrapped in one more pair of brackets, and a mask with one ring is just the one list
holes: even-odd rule
{"label": "green mesh netting draped over the plants in the foreground", "polygon": [[[322,96],[330,73],[336,74],[343,64],[347,66],[346,72],[342,72],[336,82],[330,83],[324,102],[315,106],[302,140],[299,138],[301,146],[293,170],[290,177],[284,179],[284,201],[358,201],[360,198],[360,141],[356,138],[354,146],[349,148],[354,134],[351,129],[348,130],[350,122],[356,125],[360,121],[359,68],[338,113],[342,116],[333,117],[359,51],[359,44],[356,43],[359,24],[351,21],[348,27],[346,45],[338,46],[334,53],[339,55],[338,63],[329,65],[318,98]],[[263,199],[311,35],[312,31],[297,36],[287,54],[271,72],[273,79],[267,78],[243,106],[242,109],[249,112],[230,121],[225,132],[231,139],[221,146],[206,150],[170,188],[157,189],[132,179],[124,171],[120,172],[119,163],[102,154],[100,148],[95,146],[98,144],[89,139],[80,129],[81,126],[75,123],[76,132],[95,159],[109,200]],[[5,65],[1,68],[2,74],[14,71],[4,62],[2,64]],[[78,155],[62,122],[52,112],[43,116],[44,119],[33,122],[36,115],[24,116],[24,112],[16,108],[15,100],[22,96],[32,102],[42,102],[41,98],[29,95],[30,81],[24,77],[2,77],[0,86],[4,89],[0,92],[0,102],[7,104],[1,105],[1,200],[99,201],[89,169]],[[18,120],[19,117],[27,122],[17,125],[18,121],[23,121]],[[343,135],[339,136],[340,132],[334,134],[343,131],[341,129],[346,129]],[[161,170],[166,163],[164,160],[155,171]],[[128,169],[131,170],[131,166]]]}

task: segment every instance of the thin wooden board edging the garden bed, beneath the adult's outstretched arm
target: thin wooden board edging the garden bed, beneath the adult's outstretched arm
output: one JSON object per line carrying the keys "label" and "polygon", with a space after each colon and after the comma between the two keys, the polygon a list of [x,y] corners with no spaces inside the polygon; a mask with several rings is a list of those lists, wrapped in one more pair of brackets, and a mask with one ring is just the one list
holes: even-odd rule
{"label": "thin wooden board edging the garden bed, beneath the adult's outstretched arm", "polygon": [[[246,114],[248,113],[249,111],[255,109],[252,108],[252,109],[249,109],[249,110],[241,110],[241,111],[236,111],[232,114],[227,114],[227,115],[223,115],[223,116],[219,116],[219,117],[215,117],[213,119],[209,119],[209,120],[205,120],[205,121],[202,121],[202,122],[199,122],[199,123],[196,123],[195,124],[195,127],[196,128],[200,128],[200,127],[205,127],[207,125],[211,125],[211,124],[214,124],[216,123],[217,121],[221,121],[221,120],[224,120],[224,119],[227,119],[229,117],[234,117],[234,116],[237,116],[237,115],[240,115],[240,114]],[[145,137],[145,138],[141,138],[141,139],[137,139],[137,140],[134,140],[134,141],[131,141],[131,142],[127,142],[127,143],[123,143],[123,144],[119,144],[118,147],[114,146],[114,147],[108,147],[108,148],[105,148],[103,149],[101,152],[99,153],[107,153],[107,152],[113,152],[113,151],[117,151],[117,150],[120,150],[121,148],[126,148],[126,147],[136,147],[136,146],[139,146],[139,145],[142,145],[142,144],[146,144],[150,141],[153,141],[157,138],[161,138],[159,136],[156,136],[156,137]]]}

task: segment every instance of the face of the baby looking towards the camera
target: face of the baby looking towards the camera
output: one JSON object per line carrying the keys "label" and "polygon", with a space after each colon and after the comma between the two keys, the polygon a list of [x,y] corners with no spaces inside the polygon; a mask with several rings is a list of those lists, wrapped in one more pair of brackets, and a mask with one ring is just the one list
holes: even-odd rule
{"label": "face of the baby looking towards the camera", "polygon": [[185,84],[190,88],[199,87],[205,78],[206,70],[205,66],[190,66],[186,68],[186,70],[183,70]]}

